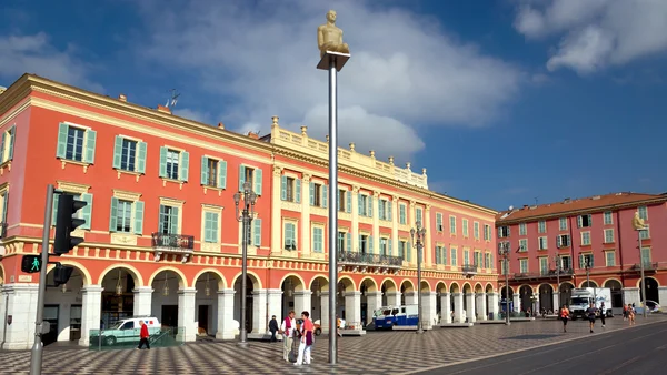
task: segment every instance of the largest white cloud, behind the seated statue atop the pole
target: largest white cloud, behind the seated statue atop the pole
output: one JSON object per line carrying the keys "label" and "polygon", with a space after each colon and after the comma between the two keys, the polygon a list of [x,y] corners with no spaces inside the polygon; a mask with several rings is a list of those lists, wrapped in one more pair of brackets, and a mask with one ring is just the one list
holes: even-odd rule
{"label": "largest white cloud, behind the seated statue atop the pole", "polygon": [[[409,158],[424,148],[418,126],[482,125],[514,98],[522,79],[517,68],[456,41],[430,18],[368,4],[334,7],[352,53],[339,74],[340,144]],[[281,124],[326,134],[328,78],[316,69],[316,30],[329,2],[140,6],[150,40],[138,53],[197,72],[193,84],[227,99],[221,114],[230,124],[268,130],[279,115]]]}

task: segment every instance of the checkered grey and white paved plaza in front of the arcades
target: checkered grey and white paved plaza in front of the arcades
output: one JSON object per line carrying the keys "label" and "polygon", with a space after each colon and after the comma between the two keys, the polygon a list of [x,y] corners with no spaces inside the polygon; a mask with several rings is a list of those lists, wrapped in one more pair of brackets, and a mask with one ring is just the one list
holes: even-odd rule
{"label": "checkered grey and white paved plaza in front of the arcades", "polygon": [[[637,327],[663,325],[667,316],[637,318]],[[588,332],[586,321],[569,322],[563,333],[557,321],[475,325],[470,328],[436,328],[424,335],[414,332],[369,332],[362,337],[339,338],[339,363],[327,364],[327,337],[317,337],[313,363],[296,367],[282,361],[282,344],[250,342],[197,342],[151,351],[120,349],[91,352],[71,346],[48,346],[43,374],[407,374],[439,366],[537,348],[628,327],[621,317],[607,320],[603,328]],[[28,374],[30,352],[0,352],[0,373]],[[439,371],[438,371],[439,372]],[[445,372],[445,369],[442,369]]]}

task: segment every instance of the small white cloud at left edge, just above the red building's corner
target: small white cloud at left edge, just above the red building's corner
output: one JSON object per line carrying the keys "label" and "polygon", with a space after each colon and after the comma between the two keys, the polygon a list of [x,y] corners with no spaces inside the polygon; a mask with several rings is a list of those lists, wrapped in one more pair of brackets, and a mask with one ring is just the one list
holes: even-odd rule
{"label": "small white cloud at left edge, just above the red building's corner", "polygon": [[64,51],[49,43],[43,33],[33,36],[0,36],[0,77],[16,79],[23,73],[34,73],[51,80],[103,92],[87,75],[91,65],[72,57],[74,48]]}

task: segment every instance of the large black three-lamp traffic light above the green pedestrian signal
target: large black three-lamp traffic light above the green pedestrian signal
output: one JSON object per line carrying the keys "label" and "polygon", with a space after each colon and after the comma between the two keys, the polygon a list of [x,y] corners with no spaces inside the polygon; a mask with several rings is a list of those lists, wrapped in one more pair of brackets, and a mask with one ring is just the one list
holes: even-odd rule
{"label": "large black three-lamp traffic light above the green pedestrian signal", "polygon": [[58,217],[56,217],[56,239],[53,241],[54,255],[67,254],[83,242],[81,237],[73,237],[71,232],[86,224],[86,220],[73,215],[87,204],[84,201],[74,200],[71,194],[61,194],[58,199]]}

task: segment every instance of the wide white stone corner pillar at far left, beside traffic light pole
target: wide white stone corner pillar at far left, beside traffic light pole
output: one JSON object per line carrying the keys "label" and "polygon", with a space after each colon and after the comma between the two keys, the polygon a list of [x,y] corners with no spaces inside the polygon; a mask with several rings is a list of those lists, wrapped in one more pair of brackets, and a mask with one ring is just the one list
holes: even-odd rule
{"label": "wide white stone corner pillar at far left, beside traffic light pole", "polygon": [[4,284],[0,288],[4,298],[6,322],[2,338],[3,349],[30,349],[34,341],[34,318],[37,317],[38,284]]}

